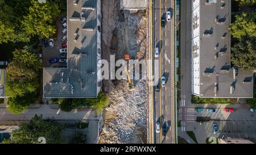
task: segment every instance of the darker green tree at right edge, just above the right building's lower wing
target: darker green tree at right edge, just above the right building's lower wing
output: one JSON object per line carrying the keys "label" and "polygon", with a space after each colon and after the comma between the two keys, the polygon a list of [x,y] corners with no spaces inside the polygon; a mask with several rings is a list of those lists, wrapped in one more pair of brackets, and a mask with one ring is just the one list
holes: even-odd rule
{"label": "darker green tree at right edge, just above the right building's lower wing", "polygon": [[231,61],[247,72],[256,69],[256,39],[243,38],[232,47]]}

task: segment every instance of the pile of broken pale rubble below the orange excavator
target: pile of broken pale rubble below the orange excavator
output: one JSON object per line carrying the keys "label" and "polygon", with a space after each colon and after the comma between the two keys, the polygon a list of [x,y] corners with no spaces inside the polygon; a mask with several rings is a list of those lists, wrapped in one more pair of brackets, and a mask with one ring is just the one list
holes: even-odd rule
{"label": "pile of broken pale rubble below the orange excavator", "polygon": [[126,81],[110,90],[110,106],[104,112],[105,124],[99,143],[146,143],[146,88],[146,79],[141,79],[134,91],[127,90]]}

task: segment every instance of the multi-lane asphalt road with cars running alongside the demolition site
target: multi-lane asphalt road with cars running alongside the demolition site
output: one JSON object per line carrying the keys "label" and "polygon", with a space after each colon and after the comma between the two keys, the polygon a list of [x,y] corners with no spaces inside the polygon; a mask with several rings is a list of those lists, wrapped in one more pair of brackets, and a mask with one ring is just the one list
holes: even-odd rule
{"label": "multi-lane asphalt road with cars running alongside the demolition site", "polygon": [[[160,133],[154,134],[156,144],[175,143],[175,112],[174,112],[174,1],[160,0],[154,1],[152,21],[153,21],[153,41],[154,47],[159,48],[159,84],[160,91],[155,91],[155,122],[159,122]],[[161,18],[166,19],[166,11],[171,10],[171,22],[166,22],[161,26]],[[154,50],[154,49],[153,49]],[[157,73],[155,73],[157,74]],[[160,78],[166,78],[166,86],[162,87]],[[173,122],[173,123],[172,123]],[[167,132],[163,132],[162,125],[167,125]]]}

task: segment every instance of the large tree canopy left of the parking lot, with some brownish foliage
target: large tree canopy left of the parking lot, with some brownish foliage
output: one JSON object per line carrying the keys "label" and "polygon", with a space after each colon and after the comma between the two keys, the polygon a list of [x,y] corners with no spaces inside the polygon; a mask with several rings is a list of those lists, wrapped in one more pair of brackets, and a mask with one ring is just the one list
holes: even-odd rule
{"label": "large tree canopy left of the parking lot, with some brownish foliage", "polygon": [[24,47],[15,50],[14,58],[7,67],[7,103],[9,110],[14,114],[26,110],[36,100],[40,89],[42,62],[35,53],[28,51],[29,49]]}

